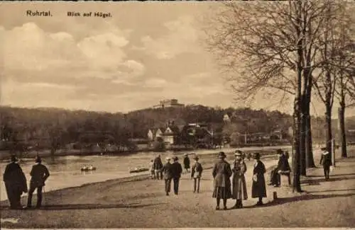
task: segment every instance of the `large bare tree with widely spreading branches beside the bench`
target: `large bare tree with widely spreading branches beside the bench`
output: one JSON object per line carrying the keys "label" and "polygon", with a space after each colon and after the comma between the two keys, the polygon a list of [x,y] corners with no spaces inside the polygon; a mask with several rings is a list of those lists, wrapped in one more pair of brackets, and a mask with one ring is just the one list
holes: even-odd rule
{"label": "large bare tree with widely spreading branches beside the bench", "polygon": [[[253,100],[268,88],[295,98],[293,186],[297,191],[301,190],[299,176],[305,175],[306,163],[314,166],[309,111],[315,70],[323,64],[316,57],[328,4],[226,3],[214,23],[209,23],[213,28],[207,30],[209,49],[231,75],[228,80],[239,100]],[[306,143],[310,144],[307,148]]]}

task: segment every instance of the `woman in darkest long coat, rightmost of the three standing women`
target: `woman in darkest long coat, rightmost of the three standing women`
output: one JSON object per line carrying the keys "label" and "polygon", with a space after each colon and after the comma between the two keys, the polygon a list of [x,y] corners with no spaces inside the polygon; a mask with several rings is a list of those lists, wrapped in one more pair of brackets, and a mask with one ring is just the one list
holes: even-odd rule
{"label": "woman in darkest long coat, rightmost of the three standing women", "polygon": [[253,184],[251,185],[251,197],[259,198],[256,205],[263,205],[263,197],[266,197],[266,184],[264,173],[266,168],[260,161],[260,154],[254,154],[255,164],[253,169]]}

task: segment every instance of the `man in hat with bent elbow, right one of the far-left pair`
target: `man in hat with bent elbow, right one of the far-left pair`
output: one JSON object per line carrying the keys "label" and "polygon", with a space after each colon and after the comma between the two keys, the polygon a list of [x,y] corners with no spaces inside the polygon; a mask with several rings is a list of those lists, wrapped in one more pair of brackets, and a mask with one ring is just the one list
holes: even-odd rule
{"label": "man in hat with bent elbow, right one of the far-left pair", "polygon": [[35,165],[32,166],[30,175],[31,182],[30,190],[28,191],[27,207],[31,208],[32,195],[35,189],[37,189],[37,205],[35,207],[40,208],[40,205],[42,204],[43,186],[45,185],[45,180],[47,180],[50,175],[48,168],[43,166],[40,156],[35,157]]}

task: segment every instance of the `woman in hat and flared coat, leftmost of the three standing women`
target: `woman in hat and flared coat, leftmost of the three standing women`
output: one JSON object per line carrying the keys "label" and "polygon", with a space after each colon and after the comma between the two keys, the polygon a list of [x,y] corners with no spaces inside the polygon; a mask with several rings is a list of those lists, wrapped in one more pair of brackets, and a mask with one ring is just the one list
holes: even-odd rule
{"label": "woman in hat and flared coat, leftmost of the three standing women", "polygon": [[226,209],[226,200],[231,198],[231,166],[224,159],[226,154],[223,151],[218,154],[219,161],[214,164],[212,176],[214,178],[214,190],[212,197],[217,198],[217,207],[219,209],[219,202],[223,199],[224,209]]}

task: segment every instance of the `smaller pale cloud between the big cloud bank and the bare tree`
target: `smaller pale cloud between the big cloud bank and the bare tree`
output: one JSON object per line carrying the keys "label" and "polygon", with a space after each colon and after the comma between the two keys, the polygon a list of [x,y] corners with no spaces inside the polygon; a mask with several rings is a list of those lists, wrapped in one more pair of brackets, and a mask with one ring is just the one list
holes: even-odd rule
{"label": "smaller pale cloud between the big cloud bank and the bare tree", "polygon": [[146,35],[141,38],[143,47],[134,47],[136,50],[146,52],[158,59],[171,59],[183,52],[197,52],[199,31],[194,26],[192,16],[180,16],[176,21],[164,23],[168,33],[160,38],[153,39]]}

